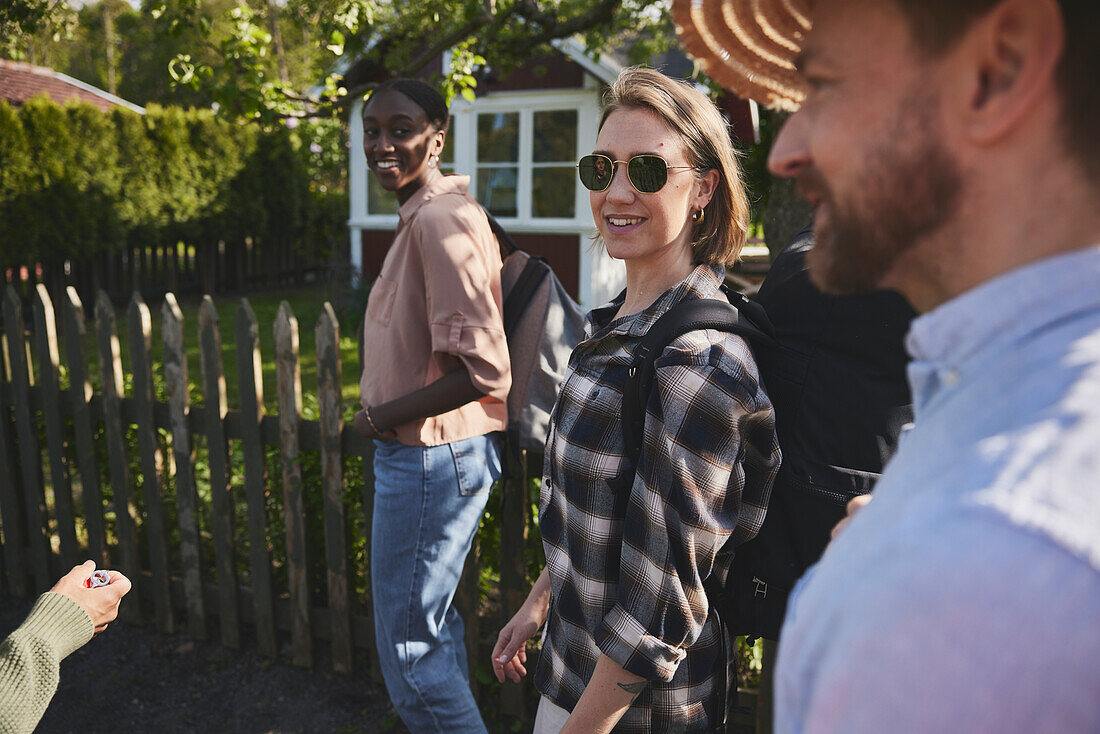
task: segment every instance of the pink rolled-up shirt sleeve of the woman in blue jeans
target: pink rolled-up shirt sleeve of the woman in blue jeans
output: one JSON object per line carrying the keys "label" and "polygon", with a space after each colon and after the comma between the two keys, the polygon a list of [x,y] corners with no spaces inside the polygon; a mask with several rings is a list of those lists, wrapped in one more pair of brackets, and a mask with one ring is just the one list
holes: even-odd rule
{"label": "pink rolled-up shirt sleeve of the woman in blue jeans", "polygon": [[460,360],[480,392],[504,402],[512,376],[499,251],[484,213],[459,201],[426,207],[417,220],[431,349]]}

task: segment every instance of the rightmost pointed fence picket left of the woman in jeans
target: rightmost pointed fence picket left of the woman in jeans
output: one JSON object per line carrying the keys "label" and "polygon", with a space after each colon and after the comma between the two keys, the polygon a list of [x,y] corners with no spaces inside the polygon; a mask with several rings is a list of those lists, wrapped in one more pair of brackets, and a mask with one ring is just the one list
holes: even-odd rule
{"label": "rightmost pointed fence picket left of the woman in jeans", "polygon": [[332,304],[317,319],[317,383],[321,408],[321,483],[324,486],[324,560],[328,566],[332,667],[351,670],[351,609],[348,603],[348,522],[343,504],[343,399],[340,324]]}

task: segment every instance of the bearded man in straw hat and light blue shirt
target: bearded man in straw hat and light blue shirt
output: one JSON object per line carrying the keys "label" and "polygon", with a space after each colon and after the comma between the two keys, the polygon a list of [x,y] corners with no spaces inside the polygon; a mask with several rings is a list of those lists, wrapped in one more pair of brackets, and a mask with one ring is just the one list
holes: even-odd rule
{"label": "bearded man in straw hat and light blue shirt", "polygon": [[1100,731],[1100,3],[673,0],[792,112],[815,283],[900,292],[914,426],[792,594],[779,732]]}

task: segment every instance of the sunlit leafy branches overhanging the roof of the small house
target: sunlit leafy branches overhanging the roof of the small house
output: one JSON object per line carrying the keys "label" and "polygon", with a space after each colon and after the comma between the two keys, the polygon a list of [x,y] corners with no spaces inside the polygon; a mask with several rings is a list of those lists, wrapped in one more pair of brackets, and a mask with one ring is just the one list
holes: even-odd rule
{"label": "sunlit leafy branches overhanging the roof of the small house", "polygon": [[[175,0],[179,1],[179,0]],[[167,13],[168,6],[162,6]],[[311,44],[311,61],[302,66],[318,73],[341,56],[375,72],[355,84],[327,70],[316,94],[302,94],[280,77],[273,62],[268,15],[282,12],[295,33],[285,37]],[[177,22],[184,22],[175,17]],[[362,95],[380,76],[415,76],[441,53],[450,67],[441,83],[449,95],[472,97],[476,73],[486,64],[507,73],[516,65],[551,51],[551,42],[581,35],[590,48],[629,34],[640,53],[671,41],[668,13],[656,0],[427,0],[410,8],[393,0],[287,0],[253,8],[241,1],[229,11],[230,33],[216,37],[217,61],[179,54],[172,65],[177,84],[206,90],[223,114],[271,123],[286,118],[327,116]],[[278,28],[282,21],[275,24]],[[306,29],[309,29],[307,32]]]}

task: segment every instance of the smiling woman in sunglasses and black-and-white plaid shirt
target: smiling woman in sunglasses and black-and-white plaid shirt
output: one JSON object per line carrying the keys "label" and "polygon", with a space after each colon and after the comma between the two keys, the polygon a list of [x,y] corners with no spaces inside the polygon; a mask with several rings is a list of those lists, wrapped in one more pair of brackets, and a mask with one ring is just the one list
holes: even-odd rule
{"label": "smiling woman in sunglasses and black-and-white plaid shirt", "polygon": [[[774,414],[748,344],[700,330],[658,358],[636,472],[622,395],[632,350],[689,298],[724,298],[748,204],[718,110],[651,69],[607,94],[596,150],[578,164],[626,291],[588,315],[547,439],[539,524],[547,566],[493,650],[499,680],[526,675],[546,625],[535,731],[714,732],[725,647],[703,580],[718,550],[763,521],[779,465]],[[618,484],[619,482],[616,482]],[[723,556],[725,557],[725,556]]]}

